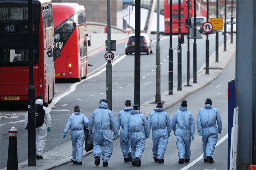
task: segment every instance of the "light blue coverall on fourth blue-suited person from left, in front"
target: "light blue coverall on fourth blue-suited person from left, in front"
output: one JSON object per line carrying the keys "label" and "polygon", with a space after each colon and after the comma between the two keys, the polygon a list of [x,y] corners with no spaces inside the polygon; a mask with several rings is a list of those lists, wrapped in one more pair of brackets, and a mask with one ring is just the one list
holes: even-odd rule
{"label": "light blue coverall on fourth blue-suited person from left, in front", "polygon": [[136,157],[141,159],[148,134],[148,121],[146,117],[139,110],[131,110],[131,114],[128,115],[124,125],[124,137],[130,135],[132,161],[135,161]]}

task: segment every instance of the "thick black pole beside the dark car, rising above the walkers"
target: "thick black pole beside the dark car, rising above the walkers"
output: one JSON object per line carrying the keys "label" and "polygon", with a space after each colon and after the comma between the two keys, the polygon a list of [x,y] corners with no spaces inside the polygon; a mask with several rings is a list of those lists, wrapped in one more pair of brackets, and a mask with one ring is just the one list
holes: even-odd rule
{"label": "thick black pole beside the dark car, rising above the walkers", "polygon": [[140,106],[140,0],[135,1],[134,103]]}

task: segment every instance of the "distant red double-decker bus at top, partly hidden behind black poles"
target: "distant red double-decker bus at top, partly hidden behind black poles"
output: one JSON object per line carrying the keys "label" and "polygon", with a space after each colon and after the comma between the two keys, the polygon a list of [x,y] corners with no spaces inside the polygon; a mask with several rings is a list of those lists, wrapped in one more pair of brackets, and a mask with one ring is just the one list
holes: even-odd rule
{"label": "distant red double-decker bus at top, partly hidden behind black poles", "polygon": [[[172,33],[177,34],[178,33],[178,0],[172,1]],[[186,19],[188,19],[188,10],[187,10],[187,1],[181,0],[181,14],[180,14],[180,20],[181,20],[181,33],[187,33],[186,25]],[[193,1],[190,0],[190,18],[194,17],[194,4]],[[202,5],[199,2],[196,2],[196,16],[203,16],[202,13]],[[170,33],[170,1],[165,0],[164,1],[164,33],[169,34]]]}

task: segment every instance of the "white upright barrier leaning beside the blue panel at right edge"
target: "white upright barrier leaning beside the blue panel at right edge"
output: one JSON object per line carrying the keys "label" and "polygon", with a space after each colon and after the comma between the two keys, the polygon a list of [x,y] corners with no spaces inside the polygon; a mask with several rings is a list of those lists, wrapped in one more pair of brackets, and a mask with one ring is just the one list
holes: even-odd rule
{"label": "white upright barrier leaning beside the blue panel at right edge", "polygon": [[233,127],[231,129],[230,169],[232,170],[237,169],[237,146],[239,135],[238,111],[239,107],[234,108]]}

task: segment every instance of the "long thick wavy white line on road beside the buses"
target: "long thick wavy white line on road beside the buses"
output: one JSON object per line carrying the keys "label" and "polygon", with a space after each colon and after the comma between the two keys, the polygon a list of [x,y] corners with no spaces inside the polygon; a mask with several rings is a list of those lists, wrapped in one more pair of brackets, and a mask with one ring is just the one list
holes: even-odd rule
{"label": "long thick wavy white line on road beside the buses", "polygon": [[[121,60],[124,59],[124,57],[126,57],[126,55],[122,55],[121,57],[118,57],[116,60],[115,60],[115,63],[112,63],[112,66],[114,66],[116,63],[120,62]],[[74,84],[71,85],[70,89],[65,92],[64,94],[61,94],[60,96],[56,97],[54,100],[52,100],[52,103],[49,105],[49,106],[54,106],[58,101],[60,101],[60,99],[62,99],[63,97],[67,96],[68,94],[74,92],[76,90],[76,86],[83,83],[84,81],[88,81],[90,80],[91,78],[94,78],[95,76],[98,76],[99,74],[103,73],[104,71],[106,71],[106,67],[101,69],[100,71],[96,72],[95,74],[91,75],[91,76],[88,76],[86,79],[83,79],[82,81],[80,82],[76,82]],[[51,107],[48,109],[48,111],[50,112],[51,111]]]}

